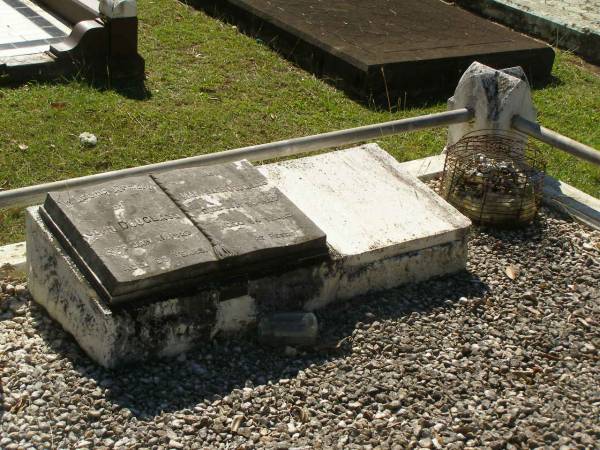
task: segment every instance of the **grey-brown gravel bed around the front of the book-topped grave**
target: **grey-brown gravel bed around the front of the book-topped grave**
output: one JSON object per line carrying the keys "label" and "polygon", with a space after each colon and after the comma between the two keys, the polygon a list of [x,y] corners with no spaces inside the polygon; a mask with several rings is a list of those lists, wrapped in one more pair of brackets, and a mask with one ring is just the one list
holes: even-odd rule
{"label": "grey-brown gravel bed around the front of the book-topped grave", "polygon": [[468,272],[320,312],[310,351],[115,371],[4,280],[0,448],[598,448],[600,233],[545,210],[469,246]]}

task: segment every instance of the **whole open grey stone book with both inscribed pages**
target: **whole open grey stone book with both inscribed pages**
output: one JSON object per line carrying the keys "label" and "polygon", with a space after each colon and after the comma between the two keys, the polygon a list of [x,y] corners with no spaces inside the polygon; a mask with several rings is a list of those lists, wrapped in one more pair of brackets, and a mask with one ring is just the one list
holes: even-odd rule
{"label": "whole open grey stone book with both inscribed pages", "polygon": [[247,161],[51,192],[40,215],[111,304],[328,253],[325,234]]}

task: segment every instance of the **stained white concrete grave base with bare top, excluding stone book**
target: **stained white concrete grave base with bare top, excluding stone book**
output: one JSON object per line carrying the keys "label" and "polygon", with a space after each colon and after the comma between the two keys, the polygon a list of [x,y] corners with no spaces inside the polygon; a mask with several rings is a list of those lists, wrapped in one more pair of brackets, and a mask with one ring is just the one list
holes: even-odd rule
{"label": "stained white concrete grave base with bare top, excluding stone book", "polygon": [[[251,327],[266,312],[315,310],[333,301],[465,268],[470,222],[377,145],[259,168],[327,235],[330,260],[187,297],[109,307],[39,216],[27,210],[30,292],[99,364],[174,355],[218,333]],[[151,300],[151,299],[148,299]]]}

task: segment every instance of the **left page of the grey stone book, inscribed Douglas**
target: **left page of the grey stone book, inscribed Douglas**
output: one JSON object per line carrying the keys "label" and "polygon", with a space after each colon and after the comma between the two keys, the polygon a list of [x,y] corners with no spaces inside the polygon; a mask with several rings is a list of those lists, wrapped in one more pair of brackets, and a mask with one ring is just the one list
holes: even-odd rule
{"label": "left page of the grey stone book, inscribed Douglas", "polygon": [[51,192],[44,210],[114,303],[216,268],[210,243],[148,176]]}

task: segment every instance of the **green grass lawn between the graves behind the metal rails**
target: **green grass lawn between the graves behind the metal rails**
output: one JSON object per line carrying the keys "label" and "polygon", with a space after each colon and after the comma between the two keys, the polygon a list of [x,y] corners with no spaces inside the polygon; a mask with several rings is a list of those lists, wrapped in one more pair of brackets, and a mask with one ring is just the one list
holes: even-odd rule
{"label": "green grass lawn between the graves behind the metal rails", "polygon": [[[71,80],[0,88],[0,188],[443,111],[374,111],[177,0],[140,0],[147,95]],[[600,76],[558,52],[556,81],[535,91],[540,122],[600,148]],[[89,131],[98,146],[84,149]],[[399,160],[439,153],[445,129],[382,139]],[[543,147],[548,172],[600,197],[600,169]],[[0,244],[23,239],[23,212],[0,210]]]}

